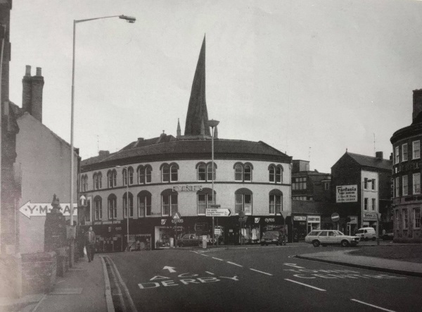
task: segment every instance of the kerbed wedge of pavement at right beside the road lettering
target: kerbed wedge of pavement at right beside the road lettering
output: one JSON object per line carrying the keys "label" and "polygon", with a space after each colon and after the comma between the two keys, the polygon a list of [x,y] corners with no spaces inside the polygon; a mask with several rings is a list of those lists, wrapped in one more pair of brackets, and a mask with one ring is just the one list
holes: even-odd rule
{"label": "kerbed wedge of pavement at right beside the road lettering", "polygon": [[296,258],[422,277],[422,263],[411,263],[407,261],[350,254],[350,252],[354,250],[357,249],[301,254],[296,255]]}

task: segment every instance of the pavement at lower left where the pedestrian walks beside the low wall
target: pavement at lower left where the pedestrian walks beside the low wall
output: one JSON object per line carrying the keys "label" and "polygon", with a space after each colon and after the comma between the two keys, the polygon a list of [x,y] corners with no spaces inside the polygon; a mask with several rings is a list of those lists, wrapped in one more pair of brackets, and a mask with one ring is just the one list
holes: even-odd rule
{"label": "pavement at lower left where the pedestrian walks beside the low wall", "polygon": [[106,287],[108,276],[106,280],[104,276],[101,256],[97,254],[90,263],[87,258],[79,259],[63,277],[57,277],[49,294],[0,298],[0,311],[114,311],[110,297],[106,297],[110,289]]}

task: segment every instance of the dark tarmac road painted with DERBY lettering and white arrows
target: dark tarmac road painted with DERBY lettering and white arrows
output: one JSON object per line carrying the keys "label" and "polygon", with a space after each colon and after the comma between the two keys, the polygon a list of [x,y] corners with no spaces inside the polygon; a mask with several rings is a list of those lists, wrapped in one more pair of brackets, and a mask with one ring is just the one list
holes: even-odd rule
{"label": "dark tarmac road painted with DERBY lettering and white arrows", "polygon": [[421,277],[293,257],[339,249],[167,249],[108,256],[129,292],[124,300],[138,311],[421,311]]}

